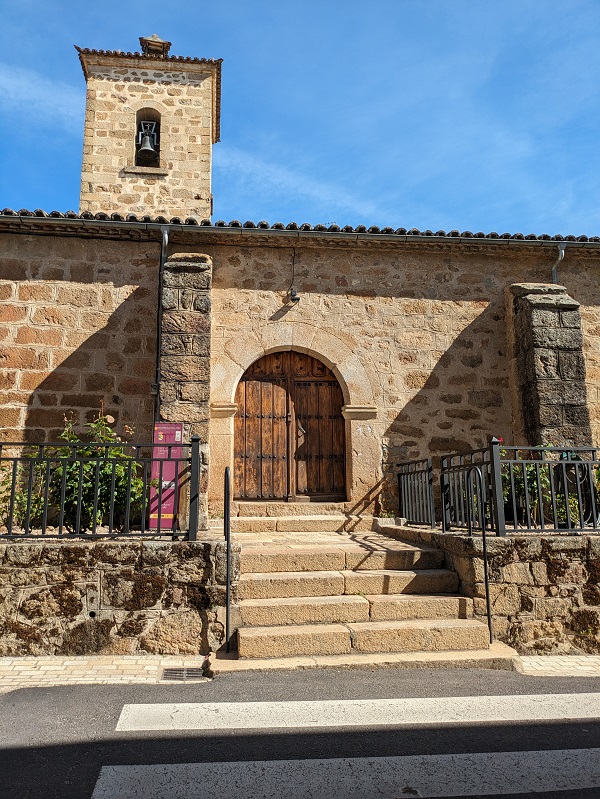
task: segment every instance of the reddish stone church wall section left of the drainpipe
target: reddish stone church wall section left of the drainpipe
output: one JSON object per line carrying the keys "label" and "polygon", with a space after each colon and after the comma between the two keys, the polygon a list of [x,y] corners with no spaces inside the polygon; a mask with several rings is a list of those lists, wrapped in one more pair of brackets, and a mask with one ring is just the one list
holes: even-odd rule
{"label": "reddish stone church wall section left of the drainpipe", "polygon": [[101,403],[149,440],[160,245],[2,236],[0,438],[54,440]]}

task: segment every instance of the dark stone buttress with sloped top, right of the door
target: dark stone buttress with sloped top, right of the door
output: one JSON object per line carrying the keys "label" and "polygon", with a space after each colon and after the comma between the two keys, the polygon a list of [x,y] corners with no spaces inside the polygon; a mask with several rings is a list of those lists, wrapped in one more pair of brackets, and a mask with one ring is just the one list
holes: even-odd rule
{"label": "dark stone buttress with sloped top, right of the door", "polygon": [[518,415],[530,446],[589,446],[579,303],[564,286],[510,286]]}

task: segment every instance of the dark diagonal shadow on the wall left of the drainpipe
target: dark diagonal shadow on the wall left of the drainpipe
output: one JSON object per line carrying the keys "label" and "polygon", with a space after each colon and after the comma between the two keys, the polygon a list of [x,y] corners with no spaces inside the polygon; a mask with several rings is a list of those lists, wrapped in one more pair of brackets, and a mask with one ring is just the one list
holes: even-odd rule
{"label": "dark diagonal shadow on the wall left of the drainpipe", "polygon": [[[71,415],[76,429],[98,416],[101,408],[114,417],[116,430],[135,430],[137,441],[150,441],[156,369],[156,311],[148,290],[137,288],[110,315],[102,329],[79,337],[77,348],[52,372],[28,371],[21,388],[30,392],[24,439],[54,441]],[[50,351],[52,357],[59,357]],[[47,376],[43,376],[47,375]]]}

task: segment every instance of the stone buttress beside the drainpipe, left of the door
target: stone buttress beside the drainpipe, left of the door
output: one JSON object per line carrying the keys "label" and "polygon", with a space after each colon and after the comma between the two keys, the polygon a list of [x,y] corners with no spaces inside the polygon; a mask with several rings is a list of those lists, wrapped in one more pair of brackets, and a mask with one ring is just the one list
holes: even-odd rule
{"label": "stone buttress beside the drainpipe, left of the door", "polygon": [[211,280],[210,256],[171,255],[161,298],[160,418],[183,422],[186,441],[200,436],[200,530],[208,529]]}

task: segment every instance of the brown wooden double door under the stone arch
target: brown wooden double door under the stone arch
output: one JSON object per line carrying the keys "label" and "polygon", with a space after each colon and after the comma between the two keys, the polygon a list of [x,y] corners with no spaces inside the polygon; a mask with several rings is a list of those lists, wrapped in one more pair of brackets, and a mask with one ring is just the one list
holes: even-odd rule
{"label": "brown wooden double door under the stone arch", "polygon": [[265,355],[235,402],[237,499],[346,499],[344,399],[324,363],[293,350]]}

